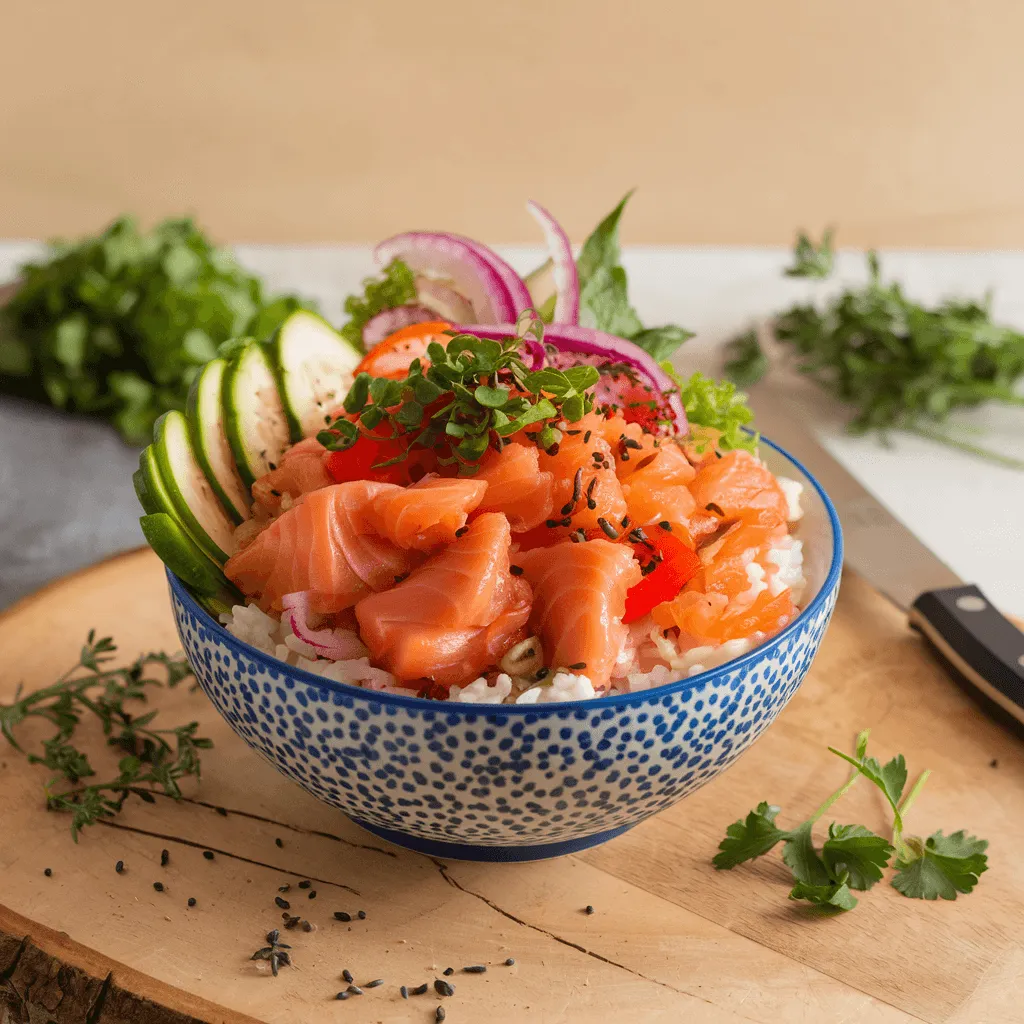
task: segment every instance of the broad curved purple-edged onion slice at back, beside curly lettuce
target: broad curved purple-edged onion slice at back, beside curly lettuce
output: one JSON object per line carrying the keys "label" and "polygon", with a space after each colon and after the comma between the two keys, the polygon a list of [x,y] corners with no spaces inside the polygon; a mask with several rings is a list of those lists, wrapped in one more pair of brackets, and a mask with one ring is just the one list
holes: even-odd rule
{"label": "broad curved purple-edged onion slice at back, beside curly lettuce", "polygon": [[525,296],[525,306],[529,305],[529,296],[522,281],[497,253],[458,234],[431,231],[395,234],[382,242],[374,251],[374,256],[381,266],[400,259],[415,273],[432,274],[452,282],[455,290],[469,301],[473,315],[485,324],[514,321],[524,308],[519,304],[521,296],[510,290],[497,264],[515,278],[522,296]]}

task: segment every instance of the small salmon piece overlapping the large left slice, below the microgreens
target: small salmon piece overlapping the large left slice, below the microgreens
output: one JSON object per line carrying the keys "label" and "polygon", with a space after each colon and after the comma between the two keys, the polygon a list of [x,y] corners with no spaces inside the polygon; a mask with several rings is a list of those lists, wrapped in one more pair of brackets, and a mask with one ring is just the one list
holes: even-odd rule
{"label": "small salmon piece overlapping the large left slice, below the microgreens", "polygon": [[425,476],[412,486],[381,492],[371,505],[370,522],[399,548],[429,551],[456,539],[486,489],[476,477]]}

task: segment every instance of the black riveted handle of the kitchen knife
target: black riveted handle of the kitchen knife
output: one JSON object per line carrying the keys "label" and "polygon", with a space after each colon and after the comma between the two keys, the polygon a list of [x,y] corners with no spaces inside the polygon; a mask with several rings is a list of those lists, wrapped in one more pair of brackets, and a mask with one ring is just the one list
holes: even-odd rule
{"label": "black riveted handle of the kitchen knife", "polygon": [[910,625],[985,696],[1024,722],[1024,633],[977,587],[922,594]]}

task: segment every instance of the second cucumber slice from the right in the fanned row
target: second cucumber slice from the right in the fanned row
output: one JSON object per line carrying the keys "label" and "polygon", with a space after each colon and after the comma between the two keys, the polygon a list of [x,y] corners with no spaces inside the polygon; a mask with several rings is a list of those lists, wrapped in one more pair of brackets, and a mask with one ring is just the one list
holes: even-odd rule
{"label": "second cucumber slice from the right in the fanned row", "polygon": [[251,341],[228,364],[221,401],[234,464],[243,482],[251,487],[278,465],[292,439],[264,345]]}

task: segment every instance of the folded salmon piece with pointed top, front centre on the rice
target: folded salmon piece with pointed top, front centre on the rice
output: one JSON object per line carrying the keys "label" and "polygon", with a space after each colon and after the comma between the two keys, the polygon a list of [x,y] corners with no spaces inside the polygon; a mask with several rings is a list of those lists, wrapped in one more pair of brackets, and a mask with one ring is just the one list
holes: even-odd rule
{"label": "folded salmon piece with pointed top, front centre on the rice", "polygon": [[509,571],[512,532],[486,512],[390,590],[355,606],[362,642],[399,679],[475,679],[525,639],[529,585]]}

